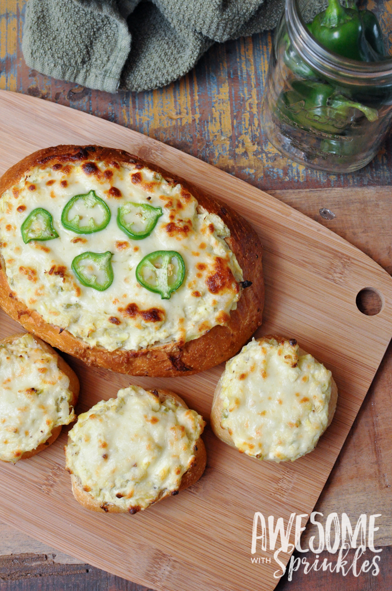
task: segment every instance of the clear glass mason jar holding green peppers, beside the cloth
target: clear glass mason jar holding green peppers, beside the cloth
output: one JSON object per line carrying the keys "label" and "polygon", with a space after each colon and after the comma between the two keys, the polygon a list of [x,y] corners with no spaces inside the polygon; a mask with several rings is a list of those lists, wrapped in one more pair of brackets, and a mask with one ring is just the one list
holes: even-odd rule
{"label": "clear glass mason jar holding green peppers, beside the cloth", "polygon": [[[388,54],[392,17],[384,4],[390,2],[380,0],[372,10]],[[328,0],[286,0],[264,90],[264,128],[292,160],[348,173],[374,158],[388,132],[392,59],[356,61],[319,45],[305,23],[327,6]]]}

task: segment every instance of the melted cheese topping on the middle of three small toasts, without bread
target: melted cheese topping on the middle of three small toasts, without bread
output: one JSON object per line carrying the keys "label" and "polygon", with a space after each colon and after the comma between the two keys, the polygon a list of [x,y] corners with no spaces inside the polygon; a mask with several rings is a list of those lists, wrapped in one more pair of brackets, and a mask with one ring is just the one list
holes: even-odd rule
{"label": "melted cheese topping on the middle of three small toasts, without bread", "polygon": [[146,509],[178,491],[204,426],[194,410],[130,386],[79,415],[69,433],[67,469],[102,508]]}

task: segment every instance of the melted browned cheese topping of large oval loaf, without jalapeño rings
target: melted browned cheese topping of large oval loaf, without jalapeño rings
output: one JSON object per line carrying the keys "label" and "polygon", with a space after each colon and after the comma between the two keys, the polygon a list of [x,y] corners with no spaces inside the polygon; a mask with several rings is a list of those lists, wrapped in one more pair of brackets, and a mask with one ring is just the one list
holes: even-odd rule
{"label": "melted browned cheese topping of large oval loaf, without jalape\u00f1o rings", "polygon": [[[90,190],[109,206],[111,219],[100,232],[79,235],[64,228],[61,212],[72,197]],[[132,240],[117,226],[117,209],[129,201],[162,208],[147,238]],[[21,225],[37,207],[51,213],[59,238],[25,244]],[[223,220],[198,206],[181,185],[139,165],[87,162],[34,168],[0,202],[1,254],[18,300],[45,322],[110,351],[183,344],[216,324],[227,324],[243,280],[228,236]],[[159,250],[177,251],[185,262],[185,280],[169,300],[146,290],[135,277],[141,259]],[[86,251],[113,253],[114,280],[107,290],[84,287],[74,275],[71,262]]]}

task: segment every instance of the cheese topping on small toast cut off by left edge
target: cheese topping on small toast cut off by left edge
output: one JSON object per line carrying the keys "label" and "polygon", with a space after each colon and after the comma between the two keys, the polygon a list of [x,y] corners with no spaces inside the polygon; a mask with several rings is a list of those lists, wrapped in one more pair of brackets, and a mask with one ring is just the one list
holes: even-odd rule
{"label": "cheese topping on small toast cut off by left edge", "polygon": [[75,415],[57,358],[27,334],[0,345],[0,459],[17,462]]}

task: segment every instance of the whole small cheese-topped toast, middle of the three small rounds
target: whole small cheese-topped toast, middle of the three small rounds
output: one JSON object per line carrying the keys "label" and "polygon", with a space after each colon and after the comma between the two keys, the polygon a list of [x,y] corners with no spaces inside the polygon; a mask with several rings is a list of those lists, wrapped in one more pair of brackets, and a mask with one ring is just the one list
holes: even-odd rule
{"label": "whole small cheese-topped toast, middle of the three small rounds", "polygon": [[[133,515],[166,496],[177,495],[179,491],[197,482],[207,461],[204,443],[198,435],[205,423],[195,411],[180,413],[178,423],[172,421],[172,411],[177,408],[189,410],[182,398],[174,392],[164,389],[145,391],[139,387],[130,387],[120,390],[117,398],[101,401],[87,413],[79,415],[78,423],[69,432],[68,444],[64,447],[66,470],[71,474],[72,492],[76,500],[92,511],[129,512]],[[159,428],[160,421],[166,418],[164,409],[169,409],[169,424],[172,423],[170,431],[155,431],[151,439],[149,433],[153,427]],[[186,424],[186,431],[182,423]],[[192,429],[197,439],[189,439]],[[173,435],[171,431],[174,432]],[[90,442],[92,445],[87,447]],[[146,458],[143,456],[145,452],[140,452],[140,446],[145,443],[146,449],[151,452],[146,453]],[[159,447],[151,451],[154,444]],[[182,446],[187,447],[184,454],[187,466],[182,466],[180,460],[173,459],[179,453],[180,444],[181,449]],[[122,453],[119,452],[120,447]],[[135,460],[132,466],[130,458],[132,462]],[[169,473],[168,488],[160,482],[161,476],[154,472],[153,467],[151,472],[149,468],[142,467],[145,461],[149,466],[153,466],[156,461],[160,473],[162,470]],[[173,462],[175,467],[171,465]],[[108,472],[105,471],[106,465]],[[138,470],[139,466],[141,473],[133,477],[133,468]],[[182,475],[178,476],[181,472]],[[118,483],[122,480],[126,483],[132,480],[132,483],[121,488]],[[154,488],[151,488],[152,482],[155,482]],[[101,485],[102,493],[99,488]],[[121,492],[116,492],[118,488]],[[96,490],[100,491],[98,496]]]}

